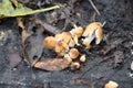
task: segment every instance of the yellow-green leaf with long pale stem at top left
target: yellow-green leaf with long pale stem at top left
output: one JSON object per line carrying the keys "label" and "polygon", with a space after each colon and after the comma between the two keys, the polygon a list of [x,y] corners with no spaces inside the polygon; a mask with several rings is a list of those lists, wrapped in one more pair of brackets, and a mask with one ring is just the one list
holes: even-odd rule
{"label": "yellow-green leaf with long pale stem at top left", "polygon": [[[11,1],[16,6],[16,9],[13,8]],[[23,7],[23,4],[17,2],[16,0],[11,1],[2,0],[2,4],[0,6],[0,15],[2,15],[2,18],[29,15],[60,8],[59,6],[54,6],[45,9],[32,10],[30,8]]]}

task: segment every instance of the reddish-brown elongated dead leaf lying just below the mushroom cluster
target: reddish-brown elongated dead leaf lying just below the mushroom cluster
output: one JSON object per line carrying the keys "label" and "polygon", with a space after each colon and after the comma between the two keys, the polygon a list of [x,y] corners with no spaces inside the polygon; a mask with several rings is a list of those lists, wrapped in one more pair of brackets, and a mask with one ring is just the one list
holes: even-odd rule
{"label": "reddish-brown elongated dead leaf lying just below the mushroom cluster", "polygon": [[62,70],[69,67],[71,62],[66,58],[52,58],[44,62],[38,62],[34,64],[35,68],[44,69],[44,70]]}

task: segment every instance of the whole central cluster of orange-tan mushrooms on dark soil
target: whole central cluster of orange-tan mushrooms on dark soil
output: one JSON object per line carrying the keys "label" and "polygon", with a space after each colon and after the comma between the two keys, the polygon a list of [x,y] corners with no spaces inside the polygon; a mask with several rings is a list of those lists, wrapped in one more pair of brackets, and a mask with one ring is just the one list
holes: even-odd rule
{"label": "whole central cluster of orange-tan mushrooms on dark soil", "polygon": [[[79,43],[81,36],[82,43]],[[93,22],[90,23],[85,30],[82,26],[76,26],[69,31],[55,34],[54,36],[48,36],[44,38],[44,47],[53,50],[58,56],[63,56],[64,58],[71,62],[71,69],[79,69],[80,63],[85,62],[85,54],[80,54],[76,46],[85,46],[91,48],[91,42],[95,38],[95,43],[99,44],[102,41],[102,23]],[[73,62],[75,58],[80,58],[80,62]]]}

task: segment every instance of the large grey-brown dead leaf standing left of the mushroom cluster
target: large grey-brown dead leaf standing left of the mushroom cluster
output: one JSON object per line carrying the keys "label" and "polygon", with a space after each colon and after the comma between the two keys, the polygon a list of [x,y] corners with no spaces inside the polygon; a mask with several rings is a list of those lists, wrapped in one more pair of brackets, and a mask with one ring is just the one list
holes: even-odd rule
{"label": "large grey-brown dead leaf standing left of the mushroom cluster", "polygon": [[43,52],[43,36],[40,29],[32,34],[24,44],[23,54],[28,63],[33,66],[42,55]]}

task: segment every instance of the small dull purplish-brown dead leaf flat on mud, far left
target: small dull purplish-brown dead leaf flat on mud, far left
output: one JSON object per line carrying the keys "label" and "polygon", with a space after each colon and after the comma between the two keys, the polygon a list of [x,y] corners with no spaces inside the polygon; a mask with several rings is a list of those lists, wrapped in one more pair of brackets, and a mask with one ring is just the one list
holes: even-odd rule
{"label": "small dull purplish-brown dead leaf flat on mud, far left", "polygon": [[18,54],[9,54],[8,59],[9,59],[9,67],[13,68],[21,62],[22,58]]}

